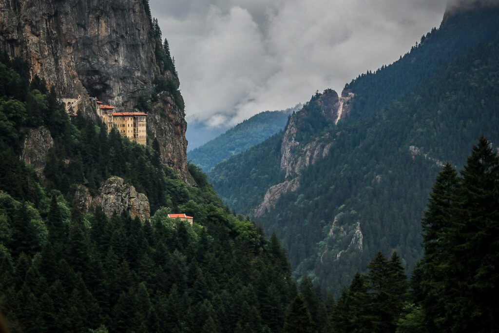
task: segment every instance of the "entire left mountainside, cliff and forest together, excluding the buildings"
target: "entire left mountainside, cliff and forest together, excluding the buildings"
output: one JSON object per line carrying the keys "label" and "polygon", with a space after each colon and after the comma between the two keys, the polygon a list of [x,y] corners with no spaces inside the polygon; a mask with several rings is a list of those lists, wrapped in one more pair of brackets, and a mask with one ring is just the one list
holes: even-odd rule
{"label": "entire left mountainside, cliff and forest together, excluding the buildings", "polygon": [[[287,258],[188,166],[178,77],[148,1],[0,8],[11,332],[282,332],[297,294]],[[149,145],[108,134],[89,103],[68,115],[60,98],[87,92],[147,111]]]}

